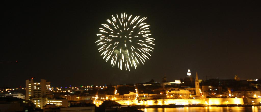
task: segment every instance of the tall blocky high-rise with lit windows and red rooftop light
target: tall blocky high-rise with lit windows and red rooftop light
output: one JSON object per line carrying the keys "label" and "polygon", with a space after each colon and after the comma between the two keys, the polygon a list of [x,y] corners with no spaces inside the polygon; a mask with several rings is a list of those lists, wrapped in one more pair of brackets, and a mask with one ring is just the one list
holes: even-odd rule
{"label": "tall blocky high-rise with lit windows and red rooftop light", "polygon": [[26,80],[25,100],[31,100],[37,108],[43,108],[46,101],[46,95],[49,94],[50,82],[41,79],[40,82],[34,82],[33,78]]}

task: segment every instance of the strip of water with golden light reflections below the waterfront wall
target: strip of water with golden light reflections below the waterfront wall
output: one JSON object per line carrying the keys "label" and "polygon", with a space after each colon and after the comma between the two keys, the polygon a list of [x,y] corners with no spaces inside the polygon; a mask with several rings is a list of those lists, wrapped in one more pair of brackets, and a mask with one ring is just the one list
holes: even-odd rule
{"label": "strip of water with golden light reflections below the waterfront wall", "polygon": [[261,106],[252,107],[182,107],[182,108],[145,108],[145,112],[261,112]]}

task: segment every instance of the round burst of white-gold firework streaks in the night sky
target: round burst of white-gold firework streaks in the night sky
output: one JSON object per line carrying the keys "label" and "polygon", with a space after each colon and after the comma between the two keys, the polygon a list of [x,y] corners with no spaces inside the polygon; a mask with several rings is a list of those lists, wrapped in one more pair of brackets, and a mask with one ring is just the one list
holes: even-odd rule
{"label": "round burst of white-gold firework streaks in the night sky", "polygon": [[96,41],[100,46],[98,51],[106,62],[110,60],[111,66],[117,66],[122,70],[125,67],[130,71],[130,67],[137,64],[144,64],[153,48],[153,38],[147,23],[143,21],[147,18],[121,13],[120,16],[111,15],[107,19],[108,24],[102,24],[99,28],[99,40]]}

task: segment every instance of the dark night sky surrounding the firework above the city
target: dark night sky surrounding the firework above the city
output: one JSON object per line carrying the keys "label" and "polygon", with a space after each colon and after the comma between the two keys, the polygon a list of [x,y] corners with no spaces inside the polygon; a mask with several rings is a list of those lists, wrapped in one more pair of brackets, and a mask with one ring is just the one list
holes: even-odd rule
{"label": "dark night sky surrounding the firework above the city", "polygon": [[[260,4],[254,2],[4,1],[0,87],[47,79],[54,86],[141,83],[184,78],[261,78]],[[100,24],[111,14],[148,17],[155,50],[131,72],[98,53]],[[18,61],[16,63],[15,61]]]}

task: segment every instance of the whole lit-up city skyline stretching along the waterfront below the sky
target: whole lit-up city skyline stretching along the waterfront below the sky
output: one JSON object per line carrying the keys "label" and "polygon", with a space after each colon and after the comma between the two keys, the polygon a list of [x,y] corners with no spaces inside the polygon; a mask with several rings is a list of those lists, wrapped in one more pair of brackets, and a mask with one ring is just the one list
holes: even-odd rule
{"label": "whole lit-up city skyline stretching along the waterfront below the sky", "polygon": [[203,81],[198,79],[197,72],[195,78],[192,77],[189,69],[184,79],[175,82],[168,81],[164,76],[161,82],[150,80],[138,84],[54,87],[45,79],[37,82],[30,78],[25,81],[25,88],[0,88],[0,96],[2,99],[21,98],[20,101],[31,102],[38,109],[70,108],[75,106],[75,101],[79,101],[77,104],[85,102],[97,107],[106,101],[138,108],[260,106],[260,81],[240,80],[238,76],[234,79]]}

